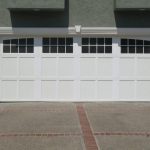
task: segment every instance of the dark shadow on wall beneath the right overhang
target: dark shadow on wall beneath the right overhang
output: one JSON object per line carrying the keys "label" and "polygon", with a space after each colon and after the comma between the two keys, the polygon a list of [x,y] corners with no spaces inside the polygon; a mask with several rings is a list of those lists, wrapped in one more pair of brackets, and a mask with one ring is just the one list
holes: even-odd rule
{"label": "dark shadow on wall beneath the right overhang", "polygon": [[115,20],[120,28],[149,28],[150,11],[115,11]]}

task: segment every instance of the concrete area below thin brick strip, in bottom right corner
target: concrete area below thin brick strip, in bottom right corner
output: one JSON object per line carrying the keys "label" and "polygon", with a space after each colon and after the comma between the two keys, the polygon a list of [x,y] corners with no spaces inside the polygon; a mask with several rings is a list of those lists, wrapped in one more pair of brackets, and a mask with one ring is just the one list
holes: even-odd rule
{"label": "concrete area below thin brick strip, in bottom right corner", "polygon": [[97,136],[101,150],[149,150],[150,138],[140,136]]}

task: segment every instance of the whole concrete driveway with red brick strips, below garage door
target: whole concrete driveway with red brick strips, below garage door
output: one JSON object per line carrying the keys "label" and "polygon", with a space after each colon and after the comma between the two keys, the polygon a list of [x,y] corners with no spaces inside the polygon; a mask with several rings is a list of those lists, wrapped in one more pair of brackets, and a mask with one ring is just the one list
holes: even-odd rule
{"label": "whole concrete driveway with red brick strips, below garage door", "polygon": [[0,150],[150,150],[150,103],[0,103]]}

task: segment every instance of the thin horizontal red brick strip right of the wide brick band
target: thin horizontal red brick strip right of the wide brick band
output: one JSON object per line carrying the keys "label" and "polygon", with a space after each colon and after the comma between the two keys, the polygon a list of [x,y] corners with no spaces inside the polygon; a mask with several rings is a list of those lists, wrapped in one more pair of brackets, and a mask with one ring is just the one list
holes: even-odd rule
{"label": "thin horizontal red brick strip right of the wide brick band", "polygon": [[94,135],[100,136],[146,136],[150,137],[150,132],[95,132]]}

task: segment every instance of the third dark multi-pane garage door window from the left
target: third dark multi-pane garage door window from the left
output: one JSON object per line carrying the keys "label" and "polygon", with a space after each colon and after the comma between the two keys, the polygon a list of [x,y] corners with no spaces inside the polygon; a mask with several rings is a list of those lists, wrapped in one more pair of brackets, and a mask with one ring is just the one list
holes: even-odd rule
{"label": "third dark multi-pane garage door window from the left", "polygon": [[112,53],[112,38],[82,38],[82,53]]}

